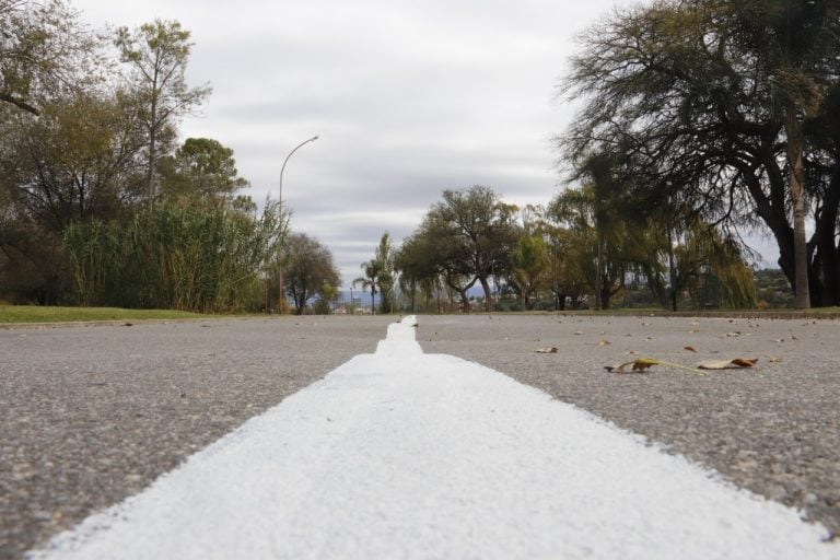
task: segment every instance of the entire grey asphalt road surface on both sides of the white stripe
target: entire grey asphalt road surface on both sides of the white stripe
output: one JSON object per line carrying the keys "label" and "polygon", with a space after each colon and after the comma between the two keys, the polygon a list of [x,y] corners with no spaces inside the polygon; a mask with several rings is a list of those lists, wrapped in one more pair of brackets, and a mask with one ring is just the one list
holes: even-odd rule
{"label": "entire grey asphalt road surface on both sides of the white stripe", "polygon": [[[372,352],[395,319],[0,330],[0,559],[20,558],[138,492],[247,418]],[[663,443],[840,533],[837,320],[421,316],[418,340],[427,352],[477,361]],[[545,347],[558,353],[535,352]],[[642,357],[759,362],[705,376],[604,370]]]}

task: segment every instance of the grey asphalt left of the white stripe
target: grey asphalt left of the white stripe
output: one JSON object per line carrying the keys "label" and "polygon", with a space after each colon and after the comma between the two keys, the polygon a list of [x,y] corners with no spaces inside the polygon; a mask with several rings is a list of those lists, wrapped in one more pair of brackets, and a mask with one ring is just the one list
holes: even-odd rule
{"label": "grey asphalt left of the white stripe", "polygon": [[159,475],[384,338],[387,317],[0,330],[0,559]]}

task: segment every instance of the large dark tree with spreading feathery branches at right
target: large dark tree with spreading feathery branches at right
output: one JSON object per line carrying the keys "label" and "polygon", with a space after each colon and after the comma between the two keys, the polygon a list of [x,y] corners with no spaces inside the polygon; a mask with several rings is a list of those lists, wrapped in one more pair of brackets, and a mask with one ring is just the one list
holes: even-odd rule
{"label": "large dark tree with spreading feathery branches at right", "polygon": [[838,75],[838,9],[666,0],[616,11],[582,37],[561,90],[587,100],[567,155],[621,154],[621,183],[648,208],[687,205],[728,228],[758,217],[804,306],[809,287],[831,276],[814,270],[822,261],[808,267],[800,167],[803,133]]}

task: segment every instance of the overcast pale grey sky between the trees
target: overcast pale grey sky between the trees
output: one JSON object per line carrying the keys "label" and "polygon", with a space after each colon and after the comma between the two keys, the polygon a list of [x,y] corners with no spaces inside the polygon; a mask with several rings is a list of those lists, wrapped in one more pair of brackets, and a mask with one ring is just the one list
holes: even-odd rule
{"label": "overcast pale grey sky between the trees", "polygon": [[[177,20],[209,82],[184,137],[232,148],[258,202],[330,247],[345,287],[383,232],[410,234],[447,188],[513,203],[560,189],[552,135],[573,109],[555,88],[574,36],[615,0],[71,0],[95,28]],[[620,0],[618,0],[620,1]]]}

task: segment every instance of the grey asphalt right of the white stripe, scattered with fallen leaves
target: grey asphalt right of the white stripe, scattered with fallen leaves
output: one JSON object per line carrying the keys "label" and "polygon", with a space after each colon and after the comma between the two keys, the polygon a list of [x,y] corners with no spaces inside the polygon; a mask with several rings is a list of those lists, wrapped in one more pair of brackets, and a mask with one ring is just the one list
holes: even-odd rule
{"label": "grey asphalt right of the white stripe, scattered with fallen leaves", "polygon": [[[840,534],[840,322],[492,315],[422,317],[425,352],[458,355],[665,444]],[[536,353],[556,347],[558,353]],[[686,350],[691,347],[695,352]],[[695,366],[758,358],[755,370]]]}

